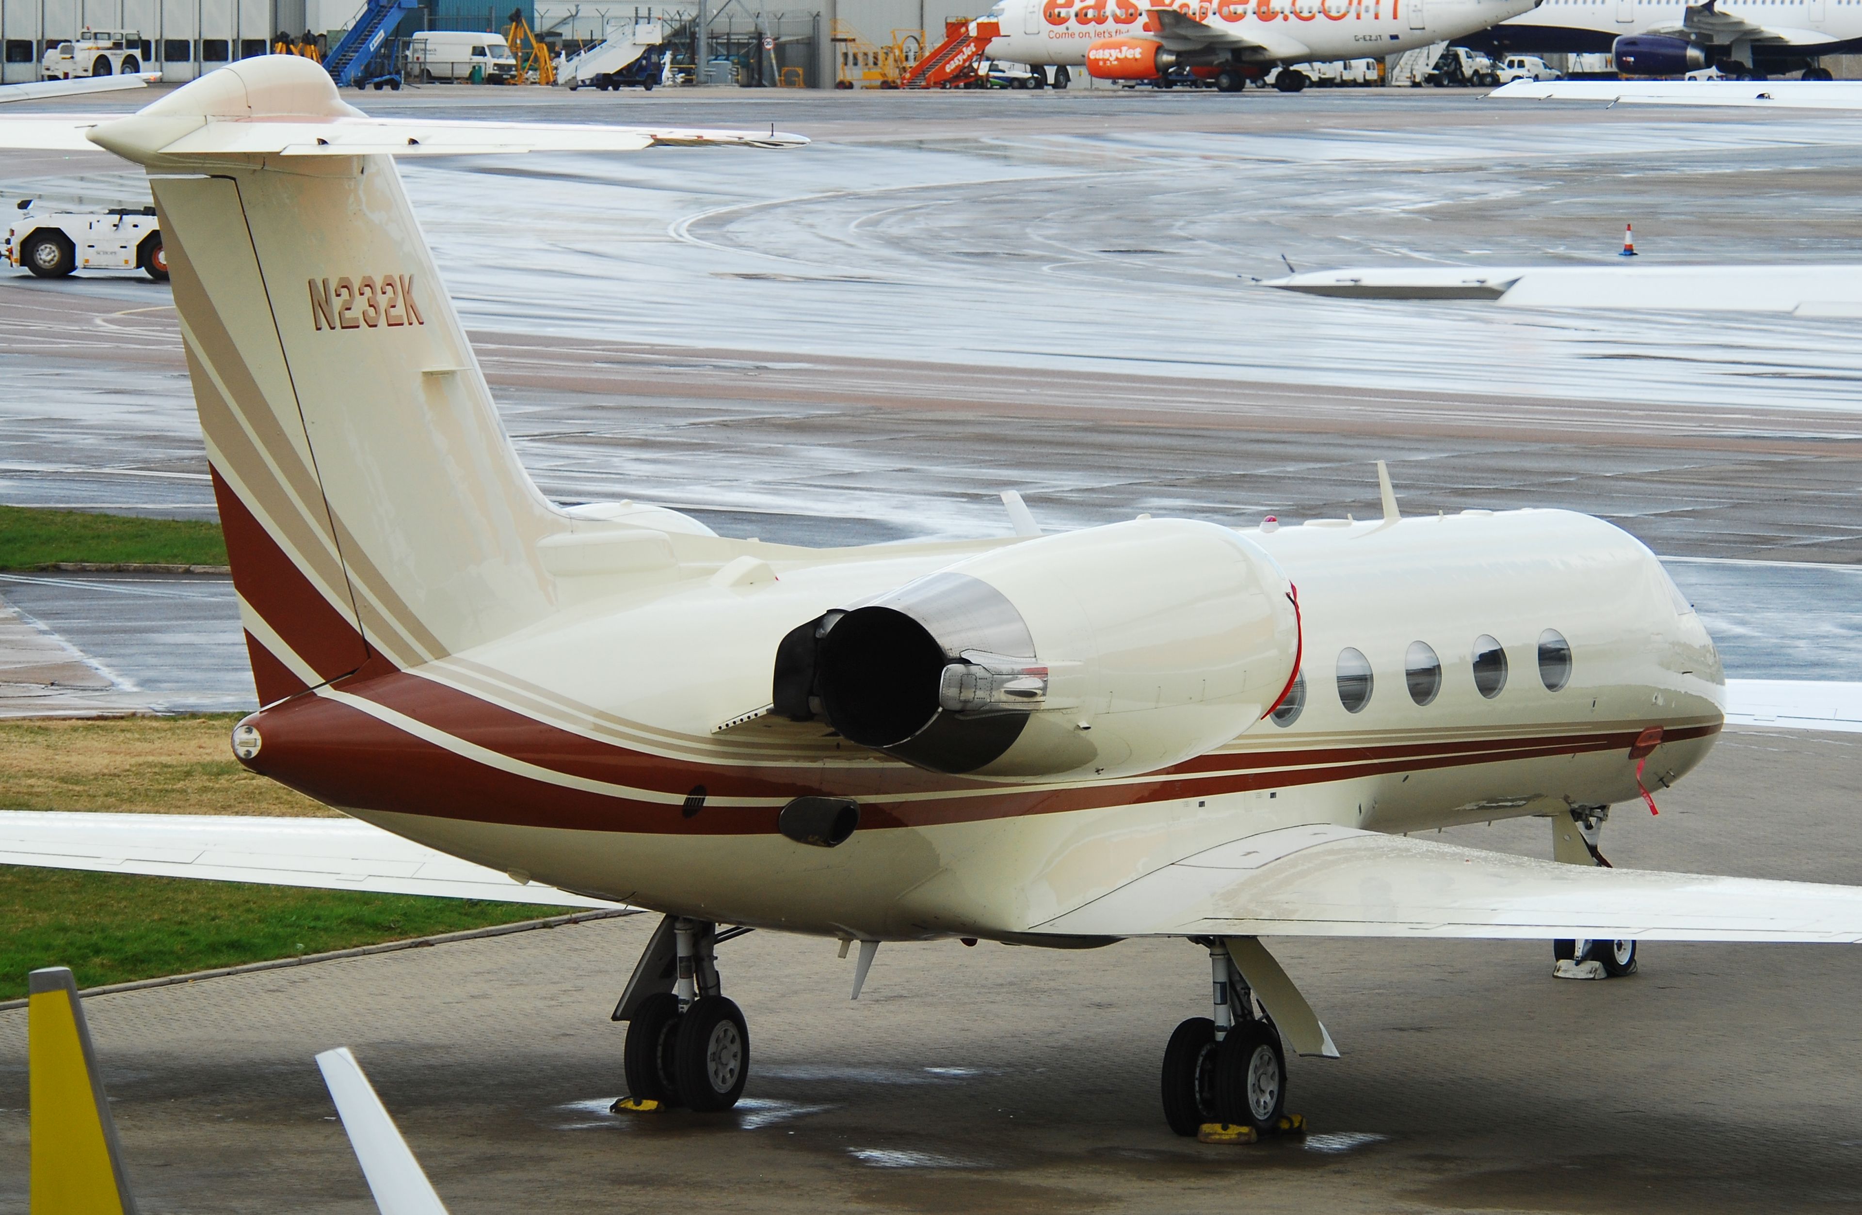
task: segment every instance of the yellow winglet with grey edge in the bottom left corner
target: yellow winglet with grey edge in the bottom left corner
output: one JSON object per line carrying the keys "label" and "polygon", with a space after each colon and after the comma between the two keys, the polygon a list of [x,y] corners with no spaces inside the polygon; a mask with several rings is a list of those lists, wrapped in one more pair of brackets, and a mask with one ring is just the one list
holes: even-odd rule
{"label": "yellow winglet with grey edge in the bottom left corner", "polygon": [[26,992],[32,1215],[136,1215],[78,984],[48,966]]}

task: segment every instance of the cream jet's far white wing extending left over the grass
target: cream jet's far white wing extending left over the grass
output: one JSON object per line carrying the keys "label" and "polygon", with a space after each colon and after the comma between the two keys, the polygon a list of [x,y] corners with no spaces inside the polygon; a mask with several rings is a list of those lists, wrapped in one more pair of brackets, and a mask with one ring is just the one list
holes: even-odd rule
{"label": "cream jet's far white wing extending left over the grass", "polygon": [[4,811],[0,865],[544,906],[614,906],[553,886],[518,884],[495,869],[356,819]]}

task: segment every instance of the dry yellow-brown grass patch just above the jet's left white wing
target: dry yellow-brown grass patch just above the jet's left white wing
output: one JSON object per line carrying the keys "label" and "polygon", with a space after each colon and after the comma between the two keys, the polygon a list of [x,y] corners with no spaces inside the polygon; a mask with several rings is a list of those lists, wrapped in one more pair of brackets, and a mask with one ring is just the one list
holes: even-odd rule
{"label": "dry yellow-brown grass patch just above the jet's left white wing", "polygon": [[236,713],[0,722],[0,809],[335,815],[233,757]]}

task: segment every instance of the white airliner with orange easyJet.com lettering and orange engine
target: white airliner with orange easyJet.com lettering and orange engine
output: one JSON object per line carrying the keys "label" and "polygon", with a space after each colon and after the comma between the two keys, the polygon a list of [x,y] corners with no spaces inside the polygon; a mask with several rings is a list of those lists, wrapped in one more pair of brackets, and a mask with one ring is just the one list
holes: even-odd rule
{"label": "white airliner with orange easyJet.com lettering and orange engine", "polygon": [[[1086,65],[1100,80],[1195,69],[1223,93],[1279,65],[1383,58],[1464,37],[1540,0],[1002,0],[996,60]],[[1275,86],[1298,93],[1305,73]]]}

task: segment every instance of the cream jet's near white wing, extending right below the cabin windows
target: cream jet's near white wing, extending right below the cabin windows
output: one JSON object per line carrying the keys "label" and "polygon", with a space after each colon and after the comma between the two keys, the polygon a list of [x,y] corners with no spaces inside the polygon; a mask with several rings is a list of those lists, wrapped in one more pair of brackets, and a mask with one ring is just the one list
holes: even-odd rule
{"label": "cream jet's near white wing, extending right below the cabin windows", "polygon": [[1164,865],[1033,930],[1855,943],[1862,886],[1592,869],[1313,824]]}

